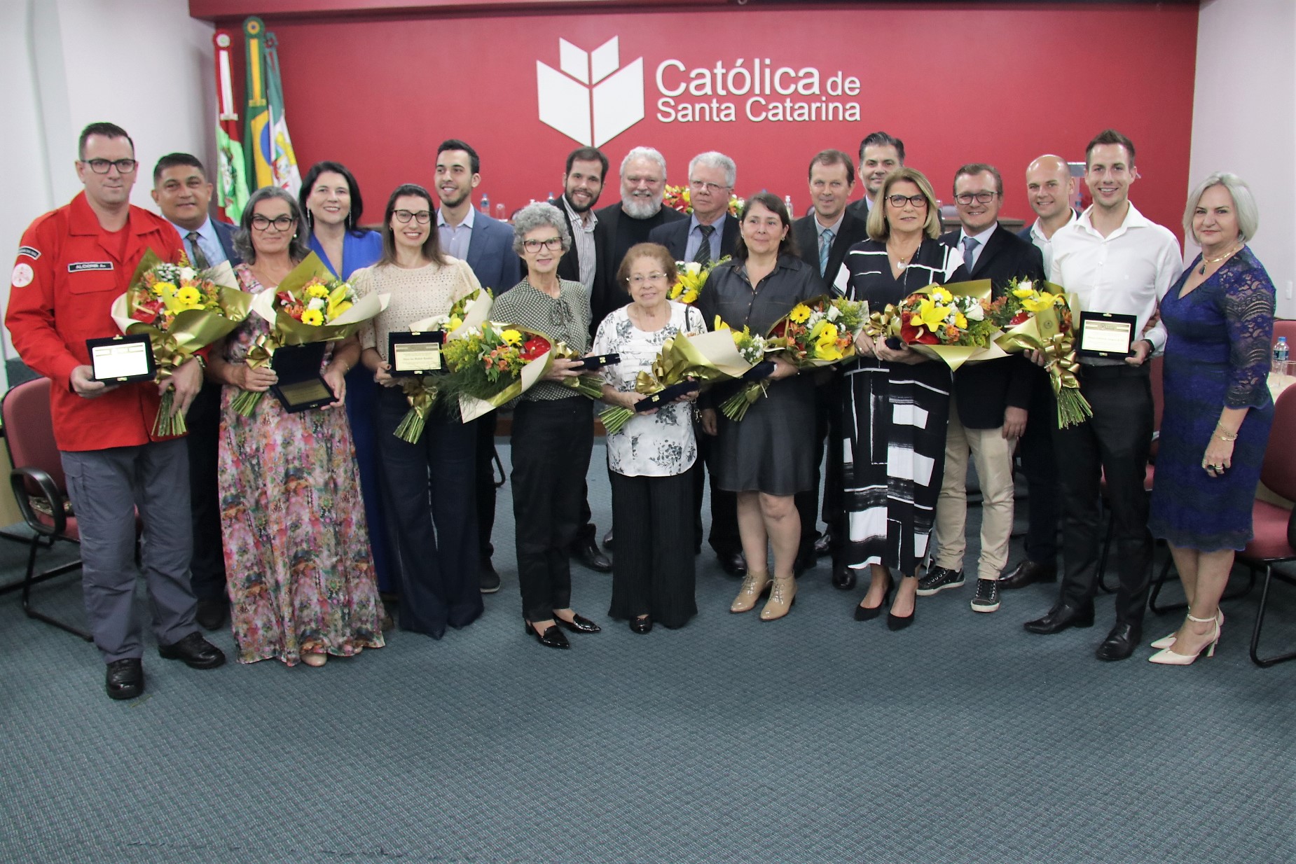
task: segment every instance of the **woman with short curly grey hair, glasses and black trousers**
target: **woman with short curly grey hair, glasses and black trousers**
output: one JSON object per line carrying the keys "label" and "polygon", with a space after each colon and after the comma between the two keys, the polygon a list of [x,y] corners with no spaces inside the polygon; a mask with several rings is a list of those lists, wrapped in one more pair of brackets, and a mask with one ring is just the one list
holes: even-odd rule
{"label": "woman with short curly grey hair, glasses and black trousers", "polygon": [[[513,251],[526,276],[495,301],[491,317],[590,347],[590,295],[581,282],[559,279],[559,259],[572,249],[562,212],[550,203],[524,207],[513,219]],[[513,408],[513,522],[517,580],[526,632],[548,648],[570,648],[562,630],[596,633],[599,626],[572,609],[568,547],[581,526],[584,484],[594,449],[594,408],[560,383],[581,374],[578,360],[553,360]]]}

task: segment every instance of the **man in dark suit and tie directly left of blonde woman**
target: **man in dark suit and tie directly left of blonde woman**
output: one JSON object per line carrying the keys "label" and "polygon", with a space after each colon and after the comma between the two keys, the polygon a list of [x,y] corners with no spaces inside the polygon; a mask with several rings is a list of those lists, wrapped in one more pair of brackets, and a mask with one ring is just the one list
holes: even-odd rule
{"label": "man in dark suit and tie directly left of blonde woman", "polygon": [[[792,223],[792,236],[801,250],[801,259],[814,267],[824,284],[824,294],[831,285],[846,250],[868,237],[864,220],[853,215],[846,206],[855,188],[855,166],[850,155],[841,150],[823,150],[810,159],[810,199],[814,212]],[[832,584],[853,588],[855,571],[841,557],[845,526],[841,523],[841,405],[839,380],[832,369],[815,373],[823,378],[815,389],[815,487],[797,492],[797,510],[801,513],[801,549],[797,553],[797,573],[814,566],[818,554],[832,554]],[[819,462],[823,460],[824,440],[828,442],[828,465],[823,487],[823,521],[828,530],[822,538],[815,531],[815,506],[819,503]],[[837,446],[833,446],[833,443]]]}

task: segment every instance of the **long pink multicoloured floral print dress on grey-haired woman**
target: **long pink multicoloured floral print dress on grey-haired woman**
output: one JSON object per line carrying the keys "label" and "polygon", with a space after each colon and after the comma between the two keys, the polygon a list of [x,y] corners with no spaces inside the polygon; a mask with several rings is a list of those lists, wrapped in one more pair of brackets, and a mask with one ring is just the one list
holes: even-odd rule
{"label": "long pink multicoloured floral print dress on grey-haired woman", "polygon": [[[246,266],[242,290],[266,289]],[[249,316],[224,359],[241,363],[270,325]],[[220,527],[238,662],[350,655],[382,646],[360,479],[346,412],[286,413],[266,394],[251,417],[222,394]]]}

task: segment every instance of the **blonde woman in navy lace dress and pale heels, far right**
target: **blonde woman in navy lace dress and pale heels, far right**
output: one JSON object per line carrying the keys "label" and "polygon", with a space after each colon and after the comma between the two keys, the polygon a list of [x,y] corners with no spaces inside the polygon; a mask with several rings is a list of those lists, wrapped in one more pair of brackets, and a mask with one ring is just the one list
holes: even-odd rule
{"label": "blonde woman in navy lace dress and pale heels, far right", "polygon": [[1185,233],[1201,254],[1161,301],[1165,413],[1148,527],[1170,544],[1188,615],[1152,642],[1153,663],[1214,654],[1220,596],[1252,538],[1251,510],[1274,418],[1269,395],[1274,284],[1247,240],[1258,224],[1251,189],[1213,174],[1188,196]]}

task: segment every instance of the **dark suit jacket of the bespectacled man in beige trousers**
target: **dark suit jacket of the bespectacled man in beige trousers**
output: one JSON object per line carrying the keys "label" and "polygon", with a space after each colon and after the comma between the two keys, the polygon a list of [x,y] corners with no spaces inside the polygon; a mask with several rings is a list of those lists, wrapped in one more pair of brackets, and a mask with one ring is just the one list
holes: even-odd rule
{"label": "dark suit jacket of the bespectacled man in beige trousers", "polygon": [[[942,234],[941,242],[956,247],[959,232]],[[1015,277],[1043,279],[1045,259],[1029,240],[999,225],[977,256],[976,267],[968,268],[964,263],[964,269],[969,280],[989,279],[994,284],[994,297],[1001,297]],[[1032,372],[1029,360],[1020,355],[962,367],[954,376],[959,420],[967,429],[1002,426],[1006,408],[1030,404]]]}

